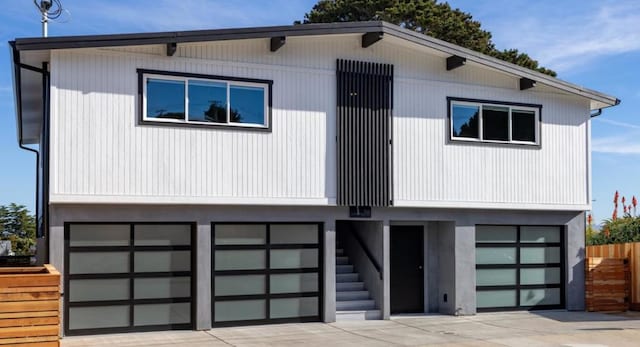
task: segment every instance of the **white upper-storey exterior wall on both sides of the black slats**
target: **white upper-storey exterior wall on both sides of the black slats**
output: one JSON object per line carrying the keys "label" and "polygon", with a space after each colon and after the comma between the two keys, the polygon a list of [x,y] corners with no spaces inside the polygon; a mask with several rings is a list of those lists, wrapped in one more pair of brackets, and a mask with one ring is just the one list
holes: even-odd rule
{"label": "white upper-storey exterior wall on both sides of the black slats", "polygon": [[[335,204],[335,61],[395,66],[396,206],[583,209],[589,101],[385,38],[61,50],[51,202]],[[273,80],[272,132],[138,125],[137,68]],[[447,96],[542,104],[541,146],[448,144]]]}

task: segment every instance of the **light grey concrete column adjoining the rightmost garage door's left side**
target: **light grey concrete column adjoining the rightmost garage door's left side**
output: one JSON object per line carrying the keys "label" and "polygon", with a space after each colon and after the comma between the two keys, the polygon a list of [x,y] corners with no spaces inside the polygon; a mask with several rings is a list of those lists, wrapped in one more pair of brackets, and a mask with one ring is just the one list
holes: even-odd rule
{"label": "light grey concrete column adjoining the rightmost garage door's left side", "polygon": [[455,227],[455,315],[476,314],[476,228]]}

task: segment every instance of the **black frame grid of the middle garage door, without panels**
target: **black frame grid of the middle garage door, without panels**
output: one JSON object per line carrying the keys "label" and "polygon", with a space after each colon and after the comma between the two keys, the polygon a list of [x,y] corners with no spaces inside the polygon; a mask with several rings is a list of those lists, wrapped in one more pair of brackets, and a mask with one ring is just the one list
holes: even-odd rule
{"label": "black frame grid of the middle garage door, without panels", "polygon": [[[216,225],[265,225],[266,226],[266,242],[264,245],[216,245],[215,232]],[[271,244],[271,225],[316,225],[318,227],[318,243],[313,244]],[[318,267],[317,268],[292,268],[292,269],[271,269],[270,267],[270,251],[272,249],[317,249],[318,250]],[[265,250],[266,267],[264,270],[215,270],[215,253],[216,250]],[[318,290],[315,292],[303,293],[286,293],[286,294],[270,294],[270,277],[272,274],[300,274],[300,273],[317,273],[318,274]],[[234,295],[234,296],[216,296],[215,280],[216,275],[265,275],[265,293],[256,295]],[[304,323],[304,322],[321,322],[324,320],[324,223],[321,222],[211,222],[211,325],[212,327],[228,327],[228,326],[245,326],[259,324],[278,324],[278,323]],[[269,318],[270,317],[270,299],[288,299],[288,298],[304,298],[318,297],[318,314],[316,316],[305,316],[296,318]],[[253,320],[234,320],[234,321],[215,321],[215,305],[221,301],[235,300],[265,300],[265,319]]]}

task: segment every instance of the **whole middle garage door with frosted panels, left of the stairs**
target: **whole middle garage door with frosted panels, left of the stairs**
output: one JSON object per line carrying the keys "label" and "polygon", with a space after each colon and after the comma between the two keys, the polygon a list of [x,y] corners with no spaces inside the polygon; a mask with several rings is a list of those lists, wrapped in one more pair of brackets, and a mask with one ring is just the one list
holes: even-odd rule
{"label": "whole middle garage door with frosted panels, left of the stairs", "polygon": [[321,224],[212,229],[214,326],[321,320]]}

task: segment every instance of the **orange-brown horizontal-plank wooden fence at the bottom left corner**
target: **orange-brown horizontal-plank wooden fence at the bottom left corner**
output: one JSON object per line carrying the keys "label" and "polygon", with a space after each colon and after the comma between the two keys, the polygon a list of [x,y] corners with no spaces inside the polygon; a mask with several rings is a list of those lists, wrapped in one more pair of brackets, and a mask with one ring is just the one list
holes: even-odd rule
{"label": "orange-brown horizontal-plank wooden fence at the bottom left corner", "polygon": [[51,265],[0,268],[0,346],[58,347],[60,273]]}

